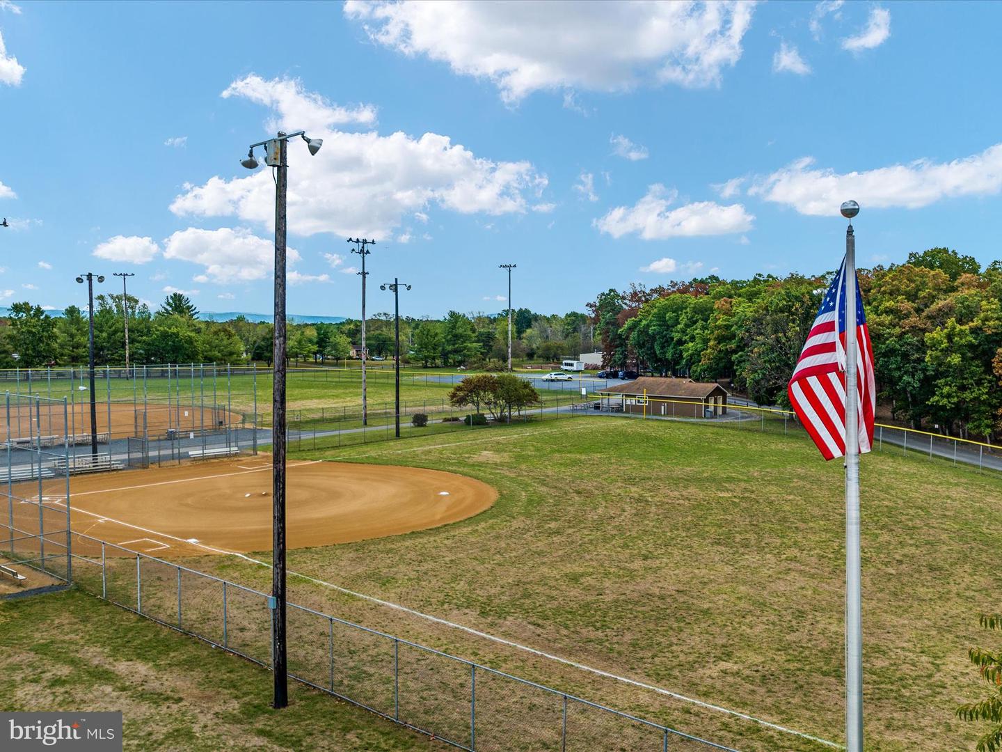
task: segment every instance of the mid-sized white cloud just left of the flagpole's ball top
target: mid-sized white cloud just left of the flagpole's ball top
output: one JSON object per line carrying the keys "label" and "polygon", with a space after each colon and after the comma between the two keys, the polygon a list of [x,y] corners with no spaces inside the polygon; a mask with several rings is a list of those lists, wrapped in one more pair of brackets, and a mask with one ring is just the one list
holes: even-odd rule
{"label": "mid-sized white cloud just left of the flagpole's ball top", "polygon": [[647,194],[632,207],[616,207],[593,223],[599,231],[613,238],[635,233],[643,240],[727,235],[752,229],[755,220],[740,204],[721,206],[714,202],[696,202],[677,209],[668,207],[678,198],[677,191],[668,191],[660,183],[647,189]]}

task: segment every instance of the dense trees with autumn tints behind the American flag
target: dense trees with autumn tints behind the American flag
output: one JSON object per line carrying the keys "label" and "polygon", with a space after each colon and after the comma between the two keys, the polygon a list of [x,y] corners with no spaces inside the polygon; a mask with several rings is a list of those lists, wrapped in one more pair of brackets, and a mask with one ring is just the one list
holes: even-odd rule
{"label": "dense trees with autumn tints behind the American flag", "polygon": [[[835,273],[710,276],[588,304],[604,365],[727,380],[789,406],[787,382]],[[1002,430],[1002,262],[947,248],[859,270],[878,398],[912,427],[967,437]]]}

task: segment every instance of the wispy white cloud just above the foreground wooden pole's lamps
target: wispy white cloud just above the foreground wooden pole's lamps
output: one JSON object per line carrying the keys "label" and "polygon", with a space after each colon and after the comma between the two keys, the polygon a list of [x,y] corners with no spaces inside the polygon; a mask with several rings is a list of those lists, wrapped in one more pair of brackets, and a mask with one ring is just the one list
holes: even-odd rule
{"label": "wispy white cloud just above the foreground wooden pole's lamps", "polygon": [[221,96],[240,96],[270,107],[280,117],[269,123],[268,128],[272,131],[295,121],[299,123],[297,130],[306,130],[312,136],[313,131],[327,130],[332,125],[372,125],[376,122],[376,107],[372,104],[341,107],[318,93],[304,90],[302,81],[293,78],[266,81],[252,73],[229,84]]}

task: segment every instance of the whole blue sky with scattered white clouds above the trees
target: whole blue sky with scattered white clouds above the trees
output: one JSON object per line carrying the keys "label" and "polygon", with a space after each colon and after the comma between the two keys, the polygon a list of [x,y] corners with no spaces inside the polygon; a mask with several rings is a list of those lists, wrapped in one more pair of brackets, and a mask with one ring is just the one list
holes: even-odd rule
{"label": "whole blue sky with scattered white clouds above the trees", "polygon": [[850,198],[861,266],[988,264],[1000,26],[997,3],[0,0],[0,305],[80,304],[92,270],[270,311],[274,187],[238,159],[278,127],[325,139],[291,144],[293,313],[357,316],[350,235],[414,316],[504,309],[502,263],[516,307],[556,313],[823,272]]}

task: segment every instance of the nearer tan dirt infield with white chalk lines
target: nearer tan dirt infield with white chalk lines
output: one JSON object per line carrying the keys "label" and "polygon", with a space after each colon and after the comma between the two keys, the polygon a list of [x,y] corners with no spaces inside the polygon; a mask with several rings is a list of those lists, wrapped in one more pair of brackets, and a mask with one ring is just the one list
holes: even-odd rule
{"label": "nearer tan dirt infield with white chalk lines", "polygon": [[[267,455],[78,476],[70,494],[75,532],[132,550],[163,556],[272,547]],[[496,498],[486,483],[440,470],[290,463],[288,543],[304,548],[411,532],[465,519]]]}

